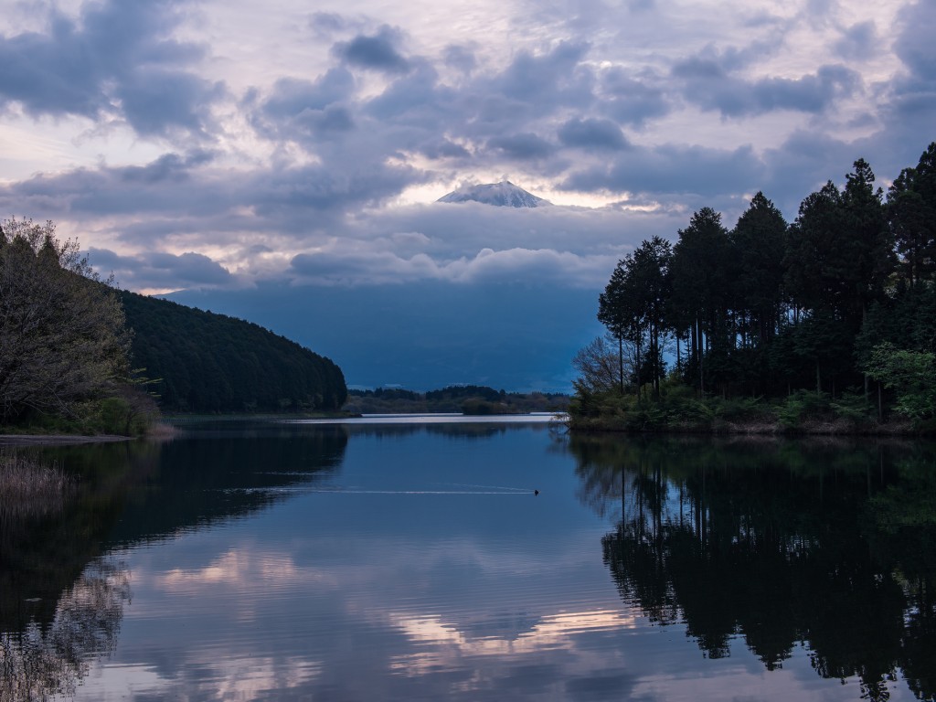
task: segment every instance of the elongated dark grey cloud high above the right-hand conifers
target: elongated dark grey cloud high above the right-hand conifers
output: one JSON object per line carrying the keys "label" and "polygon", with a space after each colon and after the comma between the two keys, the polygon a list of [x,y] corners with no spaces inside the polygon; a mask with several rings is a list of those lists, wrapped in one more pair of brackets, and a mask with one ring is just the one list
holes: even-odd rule
{"label": "elongated dark grey cloud high above the right-hand conifers", "polygon": [[738,64],[730,55],[700,55],[673,66],[682,95],[702,110],[726,117],[745,117],[774,110],[819,113],[841,97],[854,95],[861,77],[845,66],[820,66],[799,79],[743,80],[731,75]]}

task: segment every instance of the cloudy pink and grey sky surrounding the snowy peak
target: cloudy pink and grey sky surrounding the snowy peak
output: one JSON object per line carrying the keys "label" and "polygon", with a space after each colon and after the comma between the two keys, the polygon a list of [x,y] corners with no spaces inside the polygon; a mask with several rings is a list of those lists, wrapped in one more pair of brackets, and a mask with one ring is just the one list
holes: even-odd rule
{"label": "cloudy pink and grey sky surrounding the snowy peak", "polygon": [[[762,190],[792,220],[859,156],[886,186],[936,139],[922,1],[3,6],[0,212],[231,314],[272,288],[297,314],[362,287],[593,298],[699,207],[731,226]],[[557,207],[435,203],[505,178]]]}

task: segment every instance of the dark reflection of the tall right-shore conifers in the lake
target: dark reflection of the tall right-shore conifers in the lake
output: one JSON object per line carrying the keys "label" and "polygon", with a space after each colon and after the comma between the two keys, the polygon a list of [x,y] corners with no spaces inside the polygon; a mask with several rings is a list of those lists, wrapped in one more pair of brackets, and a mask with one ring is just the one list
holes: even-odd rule
{"label": "dark reflection of the tall right-shore conifers in the lake", "polygon": [[575,437],[580,499],[622,599],[709,658],[797,644],[823,678],[936,697],[936,452],[844,442]]}

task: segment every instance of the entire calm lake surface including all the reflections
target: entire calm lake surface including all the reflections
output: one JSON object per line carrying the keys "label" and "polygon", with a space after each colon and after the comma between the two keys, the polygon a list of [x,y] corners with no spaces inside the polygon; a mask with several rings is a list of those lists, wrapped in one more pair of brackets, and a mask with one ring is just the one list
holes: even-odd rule
{"label": "entire calm lake surface including all the reflections", "polygon": [[0,514],[4,702],[936,695],[929,444],[373,417],[31,452],[80,482]]}

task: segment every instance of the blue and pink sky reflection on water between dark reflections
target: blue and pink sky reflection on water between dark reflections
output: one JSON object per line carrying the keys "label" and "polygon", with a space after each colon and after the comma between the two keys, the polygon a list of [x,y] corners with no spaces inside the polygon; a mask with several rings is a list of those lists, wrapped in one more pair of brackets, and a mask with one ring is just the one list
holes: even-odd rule
{"label": "blue and pink sky reflection on water between dark reflections", "polygon": [[[297,450],[282,452],[287,461],[267,461],[269,475],[257,472],[262,461],[252,454],[237,479],[229,463],[210,489],[189,489],[200,484],[185,477],[172,500],[135,503],[158,512],[184,499],[192,509],[178,511],[177,521],[197,527],[116,553],[132,570],[134,601],[113,659],[92,669],[79,699],[668,701],[722,700],[728,691],[825,701],[860,694],[853,679],[840,685],[817,676],[801,645],[766,671],[744,638],[729,632],[728,655],[712,660],[683,622],[657,626],[622,600],[602,551],[620,513],[596,514],[575,497],[583,483],[616,489],[620,479],[576,475],[545,427],[483,440],[354,432],[341,461],[316,474],[326,485],[365,490],[535,482],[538,497],[332,495],[312,491],[322,483],[286,481],[296,491],[284,499],[249,511],[235,502],[225,519],[197,518],[208,507],[196,510],[196,496],[224,496],[216,488],[228,484],[263,490],[264,481],[281,489],[283,474],[330,446],[294,442],[291,433],[282,440]],[[247,448],[225,434],[196,455],[210,457],[222,445],[231,446],[226,459]],[[188,476],[178,461],[184,455],[181,446],[168,453]],[[139,523],[150,524],[144,516]],[[689,586],[698,590],[698,580]],[[910,699],[905,686],[893,688],[892,702]]]}

